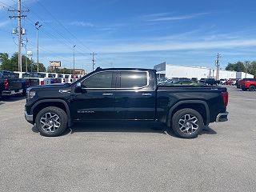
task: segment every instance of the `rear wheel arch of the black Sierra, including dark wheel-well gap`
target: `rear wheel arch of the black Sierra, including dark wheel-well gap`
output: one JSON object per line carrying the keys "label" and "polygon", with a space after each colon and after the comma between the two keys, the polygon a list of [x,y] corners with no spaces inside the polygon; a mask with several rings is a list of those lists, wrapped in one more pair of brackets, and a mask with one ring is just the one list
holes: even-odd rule
{"label": "rear wheel arch of the black Sierra, including dark wheel-well gap", "polygon": [[210,110],[209,106],[205,101],[202,100],[185,100],[177,102],[174,106],[172,106],[169,110],[166,124],[170,126],[171,118],[178,111],[185,108],[190,108],[192,110],[198,111],[199,114],[202,115],[202,119],[205,126],[208,126],[210,123]]}

